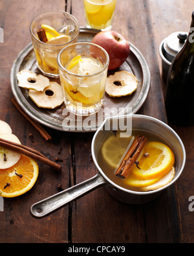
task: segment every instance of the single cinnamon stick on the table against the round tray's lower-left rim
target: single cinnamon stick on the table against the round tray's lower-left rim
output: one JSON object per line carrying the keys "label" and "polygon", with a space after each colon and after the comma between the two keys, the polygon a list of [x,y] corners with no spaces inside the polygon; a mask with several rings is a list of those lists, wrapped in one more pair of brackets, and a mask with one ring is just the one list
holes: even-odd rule
{"label": "single cinnamon stick on the table against the round tray's lower-left rim", "polygon": [[30,119],[30,117],[25,113],[25,111],[21,109],[16,99],[12,98],[11,100],[14,106],[17,108],[17,110],[21,113],[21,115],[23,115],[25,119],[27,119],[34,126],[34,128],[36,128],[36,130],[38,130],[39,134],[41,134],[45,141],[52,141],[52,137],[48,134],[48,132],[38,122]]}

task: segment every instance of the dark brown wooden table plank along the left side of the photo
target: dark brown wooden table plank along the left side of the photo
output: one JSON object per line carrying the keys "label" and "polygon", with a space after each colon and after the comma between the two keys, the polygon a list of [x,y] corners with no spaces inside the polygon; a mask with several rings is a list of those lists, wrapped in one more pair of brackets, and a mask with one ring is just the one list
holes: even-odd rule
{"label": "dark brown wooden table plank along the left side of the photo", "polygon": [[[1,1],[2,2],[2,1]],[[4,199],[4,212],[0,212],[1,242],[67,242],[68,241],[68,207],[61,209],[42,220],[32,218],[30,206],[45,197],[58,192],[56,185],[63,183],[69,187],[70,139],[69,134],[47,129],[54,138],[52,143],[46,143],[32,125],[16,110],[10,99],[10,69],[17,54],[30,43],[29,25],[38,12],[58,8],[64,10],[64,2],[58,1],[3,1],[1,5],[0,26],[5,31],[5,41],[0,44],[0,83],[1,106],[0,118],[12,127],[13,133],[21,143],[39,150],[42,154],[55,159],[62,147],[60,157],[63,159],[61,173],[58,174],[39,163],[39,177],[34,187],[26,194],[17,198]],[[34,143],[28,134],[34,135]]]}

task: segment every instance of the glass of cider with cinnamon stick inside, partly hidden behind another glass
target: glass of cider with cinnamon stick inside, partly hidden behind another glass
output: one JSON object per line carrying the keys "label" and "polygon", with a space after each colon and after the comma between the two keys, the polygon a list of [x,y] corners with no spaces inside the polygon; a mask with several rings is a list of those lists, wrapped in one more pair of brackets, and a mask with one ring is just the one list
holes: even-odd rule
{"label": "glass of cider with cinnamon stick inside, partly hidden behind another glass", "polygon": [[80,25],[77,19],[61,10],[48,10],[30,23],[36,63],[47,76],[59,77],[57,56],[65,46],[78,40]]}

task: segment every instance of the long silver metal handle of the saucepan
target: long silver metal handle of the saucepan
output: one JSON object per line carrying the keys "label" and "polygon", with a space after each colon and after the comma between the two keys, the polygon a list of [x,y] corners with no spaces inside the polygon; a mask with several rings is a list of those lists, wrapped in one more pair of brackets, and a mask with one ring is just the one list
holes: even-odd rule
{"label": "long silver metal handle of the saucepan", "polygon": [[35,218],[42,218],[106,183],[107,181],[98,173],[89,180],[33,204],[30,212]]}

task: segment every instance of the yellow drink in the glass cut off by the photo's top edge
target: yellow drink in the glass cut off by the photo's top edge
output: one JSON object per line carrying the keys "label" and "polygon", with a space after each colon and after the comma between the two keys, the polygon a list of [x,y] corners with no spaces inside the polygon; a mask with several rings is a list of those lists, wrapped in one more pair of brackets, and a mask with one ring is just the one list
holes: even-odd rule
{"label": "yellow drink in the glass cut off by the photo's top edge", "polygon": [[116,0],[84,0],[86,27],[111,29]]}

